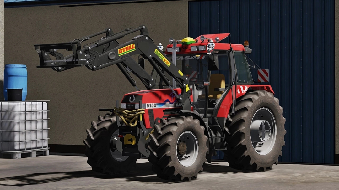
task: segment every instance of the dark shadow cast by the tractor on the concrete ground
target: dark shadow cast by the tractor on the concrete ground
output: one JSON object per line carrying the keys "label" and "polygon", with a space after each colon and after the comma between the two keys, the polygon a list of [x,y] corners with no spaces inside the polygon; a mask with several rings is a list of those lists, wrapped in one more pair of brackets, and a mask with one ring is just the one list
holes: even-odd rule
{"label": "dark shadow cast by the tractor on the concrete ground", "polygon": [[[87,168],[85,166],[85,168]],[[91,167],[88,167],[90,169]],[[51,182],[59,182],[69,179],[92,177],[97,179],[125,179],[129,182],[141,182],[141,183],[160,183],[160,184],[171,184],[171,183],[182,183],[176,181],[166,181],[158,178],[152,171],[151,163],[138,163],[137,167],[130,173],[125,175],[105,175],[95,171],[82,170],[82,171],[67,171],[67,172],[46,172],[46,173],[32,173],[26,175],[17,175],[12,177],[4,177],[0,179],[1,186],[9,187],[25,187],[29,185],[46,184]],[[205,164],[204,171],[199,175],[208,175],[208,173],[238,173],[239,170],[232,169],[228,166],[218,164]],[[198,179],[199,179],[198,175]],[[193,179],[192,181],[194,181]],[[187,181],[189,182],[189,181]]]}

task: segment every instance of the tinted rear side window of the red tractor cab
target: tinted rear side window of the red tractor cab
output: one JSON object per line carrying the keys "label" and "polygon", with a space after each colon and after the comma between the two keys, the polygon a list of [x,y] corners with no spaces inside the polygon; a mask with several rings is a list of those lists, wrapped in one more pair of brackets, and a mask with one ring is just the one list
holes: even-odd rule
{"label": "tinted rear side window of the red tractor cab", "polygon": [[250,67],[243,52],[234,52],[235,65],[237,69],[238,83],[253,83]]}

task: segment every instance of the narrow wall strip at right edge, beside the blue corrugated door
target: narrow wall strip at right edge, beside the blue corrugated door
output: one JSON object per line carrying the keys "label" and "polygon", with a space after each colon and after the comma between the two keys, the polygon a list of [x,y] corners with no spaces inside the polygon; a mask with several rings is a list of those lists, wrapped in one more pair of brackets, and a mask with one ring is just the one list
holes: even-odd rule
{"label": "narrow wall strip at right edge, beside the blue corrugated door", "polygon": [[339,1],[335,2],[335,25],[336,25],[336,67],[335,67],[335,99],[336,99],[336,154],[339,154]]}

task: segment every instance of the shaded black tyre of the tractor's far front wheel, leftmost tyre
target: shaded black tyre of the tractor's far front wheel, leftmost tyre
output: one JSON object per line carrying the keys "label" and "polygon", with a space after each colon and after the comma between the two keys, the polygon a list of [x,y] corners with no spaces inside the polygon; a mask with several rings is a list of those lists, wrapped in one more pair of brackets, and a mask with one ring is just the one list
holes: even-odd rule
{"label": "shaded black tyre of the tractor's far front wheel, leftmost tyre", "polygon": [[132,167],[136,167],[137,158],[122,156],[118,150],[111,149],[111,139],[119,135],[116,115],[98,116],[98,120],[92,121],[91,128],[86,132],[85,155],[94,171],[113,175],[128,173]]}

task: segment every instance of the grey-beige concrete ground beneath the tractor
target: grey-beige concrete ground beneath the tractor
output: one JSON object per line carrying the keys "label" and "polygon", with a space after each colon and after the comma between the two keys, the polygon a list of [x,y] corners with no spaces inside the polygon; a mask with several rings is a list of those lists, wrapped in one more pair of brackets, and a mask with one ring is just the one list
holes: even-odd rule
{"label": "grey-beige concrete ground beneath the tractor", "polygon": [[146,159],[130,175],[114,178],[92,171],[86,157],[0,159],[0,189],[339,189],[339,166],[279,164],[266,172],[242,173],[227,165],[206,164],[197,180],[180,183],[158,179]]}

